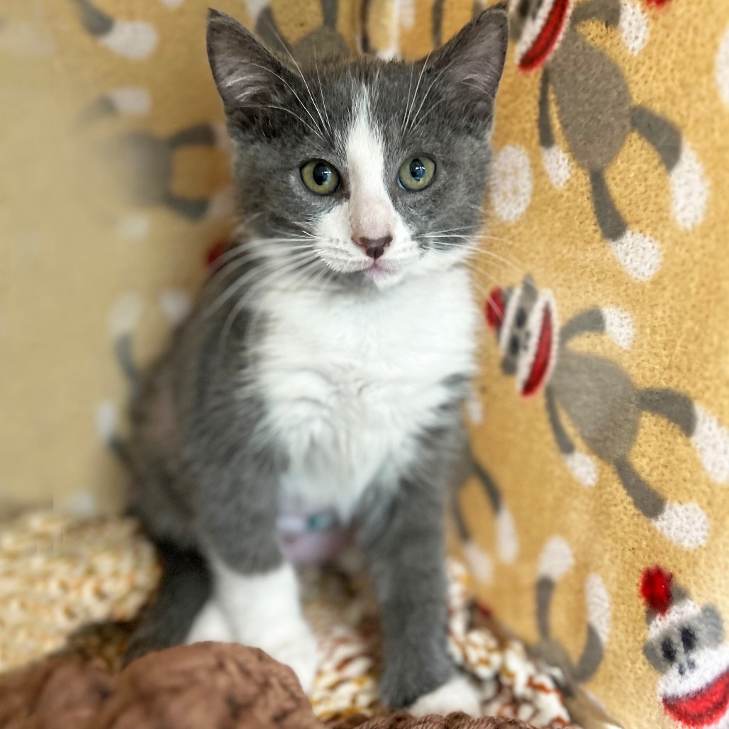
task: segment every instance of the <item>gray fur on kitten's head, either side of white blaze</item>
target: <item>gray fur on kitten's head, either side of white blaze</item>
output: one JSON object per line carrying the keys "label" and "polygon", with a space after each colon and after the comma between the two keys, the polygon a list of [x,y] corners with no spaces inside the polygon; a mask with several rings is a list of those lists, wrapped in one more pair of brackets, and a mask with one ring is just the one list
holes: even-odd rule
{"label": "gray fur on kitten's head, either side of white blaze", "polygon": [[[502,67],[489,61],[489,55],[496,54],[488,52],[488,47],[506,42],[499,37],[496,24],[489,20],[494,17],[505,17],[505,13],[491,10],[480,15],[445,50],[429,58],[418,97],[422,100],[428,90],[428,105],[407,138],[402,136],[402,120],[425,61],[407,64],[370,58],[321,58],[316,67],[318,76],[308,71],[314,98],[319,82],[327,90],[326,109],[333,130],[348,127],[354,101],[365,85],[371,90],[374,121],[383,130],[387,160],[402,160],[421,149],[441,160],[436,179],[422,194],[401,194],[393,179],[394,206],[414,236],[456,227],[475,233],[480,227],[482,191],[491,156],[485,141],[491,129],[493,98],[488,98],[477,85],[488,83],[496,87]],[[301,221],[323,214],[337,204],[336,195],[312,199],[300,184],[298,160],[326,157],[338,169],[344,169],[346,140],[341,134],[330,134],[326,128],[321,130],[321,136],[313,132],[318,120],[316,106],[307,106],[308,91],[297,71],[262,47],[246,47],[246,36],[236,36],[231,22],[214,20],[208,53],[219,84],[230,74],[228,64],[238,63],[235,68],[236,77],[241,78],[240,88],[230,86],[222,91],[222,97],[230,135],[240,149],[247,150],[245,155],[238,155],[235,163],[241,209],[249,217],[262,214],[255,222],[260,233],[268,232],[265,227],[278,233],[298,233]],[[494,32],[488,32],[492,26]],[[468,29],[471,34],[480,31],[486,48],[472,43],[475,47],[470,49],[471,55],[461,64],[461,59],[453,56],[453,48],[459,47],[459,42],[463,44]],[[240,62],[243,52],[251,56],[247,64]],[[479,58],[477,53],[486,55]],[[477,74],[472,66],[481,66]],[[306,75],[307,69],[304,71]],[[468,74],[472,74],[470,78]],[[265,87],[265,92],[241,93],[243,87],[252,85]],[[303,100],[303,105],[292,101],[291,90]],[[273,105],[281,108],[273,109]],[[292,165],[292,160],[297,164]]]}

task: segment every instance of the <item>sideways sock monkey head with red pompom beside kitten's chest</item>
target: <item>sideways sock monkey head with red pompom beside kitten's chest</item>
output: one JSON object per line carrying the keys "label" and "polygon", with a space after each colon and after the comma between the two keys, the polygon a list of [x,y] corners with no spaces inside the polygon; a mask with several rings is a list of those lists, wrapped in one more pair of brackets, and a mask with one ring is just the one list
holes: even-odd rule
{"label": "sideways sock monkey head with red pompom beside kitten's chest", "polygon": [[516,289],[491,292],[486,317],[496,330],[503,373],[515,375],[523,397],[536,394],[548,381],[556,359],[558,332],[551,292],[537,292],[526,276]]}

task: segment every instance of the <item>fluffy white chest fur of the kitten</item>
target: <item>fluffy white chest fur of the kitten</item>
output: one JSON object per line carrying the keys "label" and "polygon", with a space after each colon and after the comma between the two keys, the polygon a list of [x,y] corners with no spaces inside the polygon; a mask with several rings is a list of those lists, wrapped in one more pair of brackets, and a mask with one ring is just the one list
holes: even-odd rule
{"label": "fluffy white chest fur of the kitten", "polygon": [[375,476],[397,477],[415,437],[472,374],[479,317],[467,272],[405,281],[372,297],[271,296],[261,344],[267,426],[284,444],[284,496],[343,516]]}

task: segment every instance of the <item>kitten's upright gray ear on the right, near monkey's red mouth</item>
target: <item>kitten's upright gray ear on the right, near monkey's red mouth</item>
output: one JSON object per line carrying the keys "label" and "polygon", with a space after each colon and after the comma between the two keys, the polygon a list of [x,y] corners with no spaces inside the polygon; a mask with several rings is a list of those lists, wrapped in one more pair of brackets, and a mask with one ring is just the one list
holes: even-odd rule
{"label": "kitten's upright gray ear on the right, near monkey's red mouth", "polygon": [[425,61],[427,70],[443,77],[445,88],[464,114],[479,122],[491,122],[508,42],[506,7],[494,5]]}

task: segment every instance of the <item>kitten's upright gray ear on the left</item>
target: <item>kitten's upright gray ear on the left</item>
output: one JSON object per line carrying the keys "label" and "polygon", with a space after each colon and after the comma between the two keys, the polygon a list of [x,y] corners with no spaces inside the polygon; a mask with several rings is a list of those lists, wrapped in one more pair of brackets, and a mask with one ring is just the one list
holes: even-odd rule
{"label": "kitten's upright gray ear on the left", "polygon": [[289,69],[230,15],[208,10],[207,46],[225,109],[270,104],[285,94]]}

